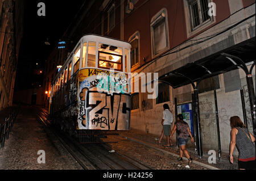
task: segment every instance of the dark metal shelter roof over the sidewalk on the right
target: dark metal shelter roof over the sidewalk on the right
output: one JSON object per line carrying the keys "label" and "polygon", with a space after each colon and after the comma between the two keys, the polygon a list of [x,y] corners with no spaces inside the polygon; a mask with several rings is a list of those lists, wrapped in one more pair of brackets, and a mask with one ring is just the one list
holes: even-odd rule
{"label": "dark metal shelter roof over the sidewalk on the right", "polygon": [[[223,53],[240,57],[242,63],[236,58],[227,58]],[[200,81],[200,79],[238,69],[240,65],[251,61],[255,61],[255,37],[201,60],[184,65],[179,69],[170,71],[159,77],[158,81],[168,83],[168,85],[175,89],[188,85],[191,82]]]}

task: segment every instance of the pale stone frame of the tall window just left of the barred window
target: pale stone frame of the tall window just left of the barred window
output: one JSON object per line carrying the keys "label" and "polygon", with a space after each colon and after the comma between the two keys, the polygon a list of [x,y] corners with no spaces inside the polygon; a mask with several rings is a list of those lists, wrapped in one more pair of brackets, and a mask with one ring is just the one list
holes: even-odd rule
{"label": "pale stone frame of the tall window just left of the barred window", "polygon": [[[158,24],[161,20],[164,19],[165,27],[166,27],[166,47],[155,52],[155,39],[154,39],[154,27]],[[152,58],[159,56],[159,54],[165,52],[166,50],[170,49],[170,40],[169,40],[169,26],[168,26],[168,14],[167,9],[163,8],[158,13],[156,13],[151,21],[150,21],[150,32],[151,32],[151,54]]]}

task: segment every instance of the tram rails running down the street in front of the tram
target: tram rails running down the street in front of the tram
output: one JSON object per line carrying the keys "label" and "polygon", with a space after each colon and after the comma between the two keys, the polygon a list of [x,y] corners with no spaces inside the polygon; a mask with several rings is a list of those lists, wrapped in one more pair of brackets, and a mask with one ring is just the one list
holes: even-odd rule
{"label": "tram rails running down the street in front of the tram", "polygon": [[110,152],[112,148],[105,144],[81,145],[75,138],[67,136],[58,131],[48,120],[46,110],[37,109],[39,121],[49,132],[53,133],[65,149],[79,163],[84,170],[151,170],[150,167],[135,159],[121,153],[121,151]]}

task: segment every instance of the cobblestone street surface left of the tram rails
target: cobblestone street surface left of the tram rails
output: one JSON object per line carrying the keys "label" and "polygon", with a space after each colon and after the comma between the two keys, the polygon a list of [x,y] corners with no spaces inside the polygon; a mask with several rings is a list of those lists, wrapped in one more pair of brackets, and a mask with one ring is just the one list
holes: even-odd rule
{"label": "cobblestone street surface left of the tram rails", "polygon": [[[22,107],[5,148],[0,148],[0,170],[78,170],[79,163],[36,120],[33,108]],[[1,115],[0,115],[1,116]],[[46,152],[46,163],[38,163],[38,151]]]}

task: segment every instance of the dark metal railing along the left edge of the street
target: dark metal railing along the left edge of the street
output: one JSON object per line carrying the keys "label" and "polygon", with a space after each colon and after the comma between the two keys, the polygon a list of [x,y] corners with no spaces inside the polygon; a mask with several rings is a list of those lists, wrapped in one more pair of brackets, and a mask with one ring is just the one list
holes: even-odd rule
{"label": "dark metal railing along the left edge of the street", "polygon": [[3,125],[0,124],[0,146],[3,148],[5,146],[5,140],[9,139],[9,134],[13,128],[14,121],[18,115],[19,108],[16,111],[11,111],[9,117],[5,119]]}

